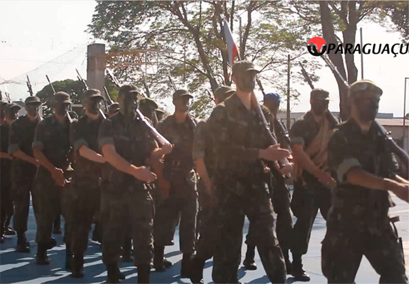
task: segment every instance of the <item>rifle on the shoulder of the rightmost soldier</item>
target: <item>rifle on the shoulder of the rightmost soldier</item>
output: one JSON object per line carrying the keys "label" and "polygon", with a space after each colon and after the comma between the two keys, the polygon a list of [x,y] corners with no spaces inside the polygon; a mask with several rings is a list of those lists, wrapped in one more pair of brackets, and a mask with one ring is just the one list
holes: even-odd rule
{"label": "rifle on the shoulder of the rightmost soldier", "polygon": [[[350,85],[349,83],[342,77],[342,75],[339,73],[338,69],[336,66],[331,62],[331,60],[327,57],[327,55],[322,55],[321,58],[327,63],[328,67],[331,69],[332,73],[336,75],[343,83],[344,85],[349,89]],[[406,154],[406,152],[400,148],[395,140],[391,136],[391,132],[388,132],[383,126],[381,126],[376,120],[373,121],[373,124],[376,128],[376,131],[383,137],[383,140],[385,143],[390,147],[392,152],[396,154],[399,159],[404,163],[406,169],[409,168],[409,156]]]}

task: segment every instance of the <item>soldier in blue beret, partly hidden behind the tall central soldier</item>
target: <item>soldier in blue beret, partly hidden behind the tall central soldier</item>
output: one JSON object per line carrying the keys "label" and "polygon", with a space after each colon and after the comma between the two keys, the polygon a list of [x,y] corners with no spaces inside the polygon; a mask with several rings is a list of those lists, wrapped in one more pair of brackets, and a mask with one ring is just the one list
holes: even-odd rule
{"label": "soldier in blue beret, partly hidden behind the tall central soldier", "polygon": [[[277,137],[278,143],[281,147],[290,150],[285,135],[285,126],[279,121],[277,113],[280,107],[280,95],[278,93],[266,93],[264,95],[264,113],[266,115],[267,122],[270,125],[271,133]],[[287,161],[284,161],[287,164]],[[283,167],[283,164],[281,165]],[[274,170],[274,169],[271,169]],[[271,175],[272,174],[272,175]],[[267,173],[267,185],[271,194],[271,202],[274,211],[277,214],[277,239],[283,251],[285,267],[287,274],[292,274],[292,265],[289,261],[288,250],[290,249],[290,241],[292,238],[292,214],[290,209],[290,191],[285,184],[285,177],[278,171],[272,171]],[[243,261],[243,265],[248,270],[257,269],[254,261],[255,247],[254,242],[251,240],[253,233],[253,226],[248,228],[248,234],[246,236],[247,252]]]}

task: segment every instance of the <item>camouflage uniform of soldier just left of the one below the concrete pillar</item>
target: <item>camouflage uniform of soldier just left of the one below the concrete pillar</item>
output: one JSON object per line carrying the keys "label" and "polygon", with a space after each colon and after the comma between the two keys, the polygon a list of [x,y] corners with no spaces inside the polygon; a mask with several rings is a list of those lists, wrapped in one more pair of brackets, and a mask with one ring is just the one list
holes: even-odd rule
{"label": "camouflage uniform of soldier just left of the one below the concrete pillar", "polygon": [[54,115],[48,116],[38,123],[35,130],[33,149],[39,147],[46,158],[64,171],[65,186],[59,186],[51,173],[40,165],[34,179],[32,191],[34,216],[37,223],[35,241],[37,244],[46,244],[51,238],[54,217],[61,204],[62,215],[65,221],[65,236],[67,247],[70,246],[70,205],[71,191],[69,179],[72,173],[70,165],[70,120],[65,117],[63,124],[59,123]]}

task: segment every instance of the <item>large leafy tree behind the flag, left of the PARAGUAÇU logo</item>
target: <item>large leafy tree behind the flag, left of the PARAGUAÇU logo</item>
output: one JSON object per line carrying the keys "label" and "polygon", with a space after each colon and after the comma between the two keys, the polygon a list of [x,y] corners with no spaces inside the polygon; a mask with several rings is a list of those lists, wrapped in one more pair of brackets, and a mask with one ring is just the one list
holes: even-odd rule
{"label": "large leafy tree behind the flag, left of the PARAGUA\u00c7U logo", "polygon": [[[215,90],[218,85],[231,85],[228,52],[222,33],[222,19],[236,32],[237,18],[246,15],[246,23],[239,41],[243,59],[261,66],[263,82],[276,89],[285,89],[286,56],[297,59],[305,53],[302,38],[313,34],[291,13],[280,12],[281,2],[258,1],[99,1],[88,31],[110,44],[110,52],[137,49],[155,49],[172,53],[125,53],[126,61],[108,59],[114,72],[123,82],[142,87],[142,65],[160,58],[154,74],[147,74],[150,87],[157,98],[169,96],[167,84],[170,71],[178,86],[194,92],[194,110],[204,116],[213,107],[205,89]],[[243,17],[244,18],[244,17]],[[130,63],[130,64],[129,64]],[[308,69],[316,63],[311,61]],[[147,64],[149,65],[149,64]],[[135,80],[135,77],[139,78]],[[316,77],[313,78],[316,80]],[[294,81],[303,81],[294,74]],[[136,82],[135,82],[136,81]],[[152,82],[154,82],[152,84]],[[165,83],[165,84],[164,84]],[[292,90],[297,94],[297,90]],[[207,104],[207,105],[206,105]],[[201,115],[200,115],[201,114]]]}

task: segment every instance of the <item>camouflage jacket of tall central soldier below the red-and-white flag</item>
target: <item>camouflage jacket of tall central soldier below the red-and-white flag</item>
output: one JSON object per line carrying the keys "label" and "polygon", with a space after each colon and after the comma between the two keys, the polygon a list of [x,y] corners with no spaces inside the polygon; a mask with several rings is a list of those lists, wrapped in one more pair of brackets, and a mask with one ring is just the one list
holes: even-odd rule
{"label": "camouflage jacket of tall central soldier below the red-and-white flag", "polygon": [[256,111],[248,110],[233,94],[216,106],[207,124],[218,159],[216,179],[262,182],[258,152],[270,143]]}

